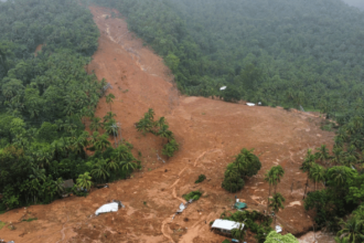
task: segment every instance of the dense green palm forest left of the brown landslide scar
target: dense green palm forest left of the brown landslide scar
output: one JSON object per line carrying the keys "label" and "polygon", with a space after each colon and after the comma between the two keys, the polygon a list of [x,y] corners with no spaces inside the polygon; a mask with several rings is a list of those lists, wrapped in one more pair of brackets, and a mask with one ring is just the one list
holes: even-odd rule
{"label": "dense green palm forest left of the brown landslide scar", "polygon": [[94,117],[106,82],[85,71],[99,36],[89,10],[74,0],[12,0],[0,2],[0,212],[49,203],[67,179],[82,196],[92,182],[130,175],[132,145],[108,141],[119,134],[116,115]]}

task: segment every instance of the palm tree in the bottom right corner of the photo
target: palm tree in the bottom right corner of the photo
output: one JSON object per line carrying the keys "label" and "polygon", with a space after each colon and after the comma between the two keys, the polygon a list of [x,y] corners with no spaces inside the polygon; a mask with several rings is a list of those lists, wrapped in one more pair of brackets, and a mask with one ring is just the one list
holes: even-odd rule
{"label": "palm tree in the bottom right corner of the photo", "polygon": [[338,240],[340,240],[340,242],[364,242],[364,221],[362,219],[352,216],[346,222],[341,220],[340,225],[342,226],[342,230],[338,232]]}

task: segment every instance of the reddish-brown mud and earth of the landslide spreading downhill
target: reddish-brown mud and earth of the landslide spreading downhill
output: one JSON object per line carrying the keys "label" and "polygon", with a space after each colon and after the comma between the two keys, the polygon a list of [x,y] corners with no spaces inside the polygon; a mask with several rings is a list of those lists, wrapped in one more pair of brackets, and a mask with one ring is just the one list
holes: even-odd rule
{"label": "reddish-brown mud and earth of the landslide spreading downhill", "polygon": [[[225,237],[211,232],[210,222],[232,211],[235,196],[249,209],[263,212],[268,197],[264,173],[276,165],[286,170],[278,186],[286,198],[285,210],[278,213],[277,222],[296,235],[312,228],[313,215],[306,213],[302,203],[307,175],[299,167],[308,148],[322,144],[332,147],[334,134],[320,129],[321,118],[282,108],[181,96],[162,59],[128,31],[125,20],[111,18],[114,10],[92,7],[90,11],[101,35],[87,71],[106,78],[113,87],[108,93],[116,96],[110,106],[101,98],[96,115],[103,117],[110,109],[117,114],[122,138],[135,146],[133,154],[143,168],[128,180],[95,189],[86,198],[69,197],[1,214],[0,220],[11,222],[14,229],[2,228],[0,239],[17,243],[220,243]],[[165,141],[142,136],[135,128],[148,108],[154,109],[157,118],[165,117],[181,145],[173,158],[163,158],[165,163],[157,158]],[[263,168],[233,194],[221,183],[226,165],[242,148],[255,148]],[[207,179],[195,184],[201,173]],[[173,219],[184,202],[182,196],[192,190],[204,194]],[[114,199],[126,208],[95,216],[100,205]],[[22,222],[24,216],[38,220]]]}

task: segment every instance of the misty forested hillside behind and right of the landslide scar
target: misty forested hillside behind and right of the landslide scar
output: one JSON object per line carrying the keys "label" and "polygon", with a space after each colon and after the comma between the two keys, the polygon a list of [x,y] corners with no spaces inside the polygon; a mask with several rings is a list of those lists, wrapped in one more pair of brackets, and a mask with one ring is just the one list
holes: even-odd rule
{"label": "misty forested hillside behind and right of the landslide scar", "polygon": [[341,0],[96,2],[127,17],[188,95],[302,105],[342,123],[361,103],[364,13]]}

